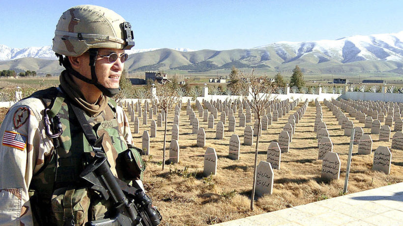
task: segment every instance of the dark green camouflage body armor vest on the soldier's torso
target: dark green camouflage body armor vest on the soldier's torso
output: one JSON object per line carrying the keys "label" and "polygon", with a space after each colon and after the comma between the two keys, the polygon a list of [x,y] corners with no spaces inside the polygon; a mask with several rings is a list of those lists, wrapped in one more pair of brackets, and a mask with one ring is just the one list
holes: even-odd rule
{"label": "dark green camouflage body armor vest on the soldier's torso", "polygon": [[[60,97],[58,92],[57,88],[53,87],[35,92],[32,96],[41,99],[47,107],[55,101],[57,95],[58,98]],[[47,99],[48,97],[53,99]],[[69,108],[69,101],[62,97],[59,101],[62,103],[56,113],[60,115],[63,133],[58,138],[54,138],[54,143],[55,139],[58,139],[59,147],[49,155],[48,159],[45,159],[44,166],[32,177],[29,185],[33,220],[37,225],[59,225],[60,216],[55,214],[55,208],[59,206],[55,206],[53,199],[57,198],[60,191],[64,193],[73,190],[73,192],[83,192],[83,195],[88,196],[84,199],[89,202],[86,203],[88,210],[84,210],[84,214],[87,216],[81,216],[85,218],[85,221],[99,220],[112,214],[108,213],[108,201],[94,194],[95,192],[91,193],[86,187],[83,188],[85,184],[79,175],[91,159],[92,148],[88,144],[74,112]],[[107,154],[112,173],[119,178],[124,178],[122,169],[116,167],[116,165],[121,166],[122,164],[116,161],[120,159],[118,158],[119,153],[127,150],[128,147],[116,120],[115,106],[115,102],[110,101],[109,107],[103,112],[95,117],[86,115],[86,120],[92,126],[97,138],[103,136],[102,147]],[[70,197],[70,201],[73,198]],[[52,207],[52,205],[54,206]],[[82,206],[82,203],[78,206]],[[72,208],[74,209],[74,206]],[[63,213],[63,209],[61,211],[60,215],[63,220],[66,213]]]}

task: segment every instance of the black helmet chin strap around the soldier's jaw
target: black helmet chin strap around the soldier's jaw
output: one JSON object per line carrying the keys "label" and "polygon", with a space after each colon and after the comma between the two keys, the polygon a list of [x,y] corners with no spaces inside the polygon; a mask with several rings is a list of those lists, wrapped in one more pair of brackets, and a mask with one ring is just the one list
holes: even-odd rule
{"label": "black helmet chin strap around the soldier's jaw", "polygon": [[96,73],[95,73],[95,61],[96,61],[96,56],[98,55],[98,50],[97,49],[89,49],[89,66],[91,68],[91,79],[86,78],[85,76],[81,75],[80,73],[78,73],[77,71],[74,70],[69,70],[70,74],[74,75],[75,77],[77,77],[78,79],[92,84],[95,87],[97,87],[103,95],[112,98],[114,97],[116,94],[119,93],[120,87],[119,88],[106,88],[105,86],[101,85],[101,83],[98,82],[98,79],[96,77]]}

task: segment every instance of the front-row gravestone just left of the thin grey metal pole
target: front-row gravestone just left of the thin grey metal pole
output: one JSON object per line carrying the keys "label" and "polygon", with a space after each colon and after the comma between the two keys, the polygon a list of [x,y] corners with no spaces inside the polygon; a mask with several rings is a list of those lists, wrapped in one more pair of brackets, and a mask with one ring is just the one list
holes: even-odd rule
{"label": "front-row gravestone just left of the thin grey metal pole", "polygon": [[339,155],[335,152],[327,152],[322,161],[321,178],[326,181],[339,179],[340,165]]}

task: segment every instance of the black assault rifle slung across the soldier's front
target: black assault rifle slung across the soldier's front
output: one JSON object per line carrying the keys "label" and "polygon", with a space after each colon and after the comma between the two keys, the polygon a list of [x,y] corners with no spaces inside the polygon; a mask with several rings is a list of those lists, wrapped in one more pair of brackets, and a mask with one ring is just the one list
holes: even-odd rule
{"label": "black assault rifle slung across the soldier's front", "polygon": [[[101,138],[102,139],[102,138]],[[98,140],[97,140],[98,141]],[[99,144],[99,142],[96,142]],[[100,145],[94,145],[100,146]],[[157,226],[162,219],[158,209],[144,193],[137,181],[134,186],[116,178],[111,172],[105,151],[92,147],[95,156],[92,162],[80,174],[88,181],[91,189],[98,191],[105,200],[112,198],[116,216],[86,223],[86,226]],[[128,154],[131,154],[128,151]]]}

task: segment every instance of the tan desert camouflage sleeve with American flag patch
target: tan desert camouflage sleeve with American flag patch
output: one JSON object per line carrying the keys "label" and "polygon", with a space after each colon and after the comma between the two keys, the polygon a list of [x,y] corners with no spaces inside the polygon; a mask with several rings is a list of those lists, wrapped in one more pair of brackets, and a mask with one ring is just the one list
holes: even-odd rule
{"label": "tan desert camouflage sleeve with American flag patch", "polygon": [[[39,102],[38,102],[39,101]],[[44,136],[38,99],[16,103],[0,127],[0,226],[31,226],[29,183],[53,144]]]}

